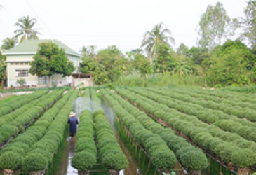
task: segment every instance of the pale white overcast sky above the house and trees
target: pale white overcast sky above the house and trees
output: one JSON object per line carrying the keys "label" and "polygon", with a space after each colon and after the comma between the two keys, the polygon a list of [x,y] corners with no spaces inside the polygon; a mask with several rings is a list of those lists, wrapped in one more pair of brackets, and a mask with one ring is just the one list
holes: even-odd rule
{"label": "pale white overcast sky above the house and trees", "polygon": [[[230,18],[243,17],[245,0],[220,0]],[[1,0],[0,45],[13,37],[15,22],[36,18],[39,39],[57,39],[79,52],[82,46],[97,50],[116,45],[123,53],[140,48],[146,31],[163,22],[175,39],[196,46],[198,23],[215,0]]]}

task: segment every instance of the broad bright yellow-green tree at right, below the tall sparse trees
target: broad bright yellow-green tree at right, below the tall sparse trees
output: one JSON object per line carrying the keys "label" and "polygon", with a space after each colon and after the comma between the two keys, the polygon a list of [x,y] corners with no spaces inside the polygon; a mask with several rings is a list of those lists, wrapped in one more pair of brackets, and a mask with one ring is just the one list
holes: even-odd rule
{"label": "broad bright yellow-green tree at right, below the tall sparse trees", "polygon": [[207,60],[206,80],[210,85],[246,85],[252,60],[252,53],[241,41],[227,41]]}

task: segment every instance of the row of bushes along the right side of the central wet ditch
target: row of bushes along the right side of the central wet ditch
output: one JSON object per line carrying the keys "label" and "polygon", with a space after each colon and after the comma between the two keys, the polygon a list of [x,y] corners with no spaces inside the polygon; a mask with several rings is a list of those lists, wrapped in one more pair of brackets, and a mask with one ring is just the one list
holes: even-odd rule
{"label": "row of bushes along the right side of the central wet ditch", "polygon": [[122,121],[124,127],[128,129],[135,142],[147,152],[153,165],[164,172],[169,172],[170,169],[173,169],[177,164],[177,159],[173,151],[166,145],[166,142],[158,134],[154,134],[143,127],[135,116],[123,109],[121,104],[114,99],[114,92],[109,90],[100,90],[100,92],[109,106],[112,107],[116,116]]}

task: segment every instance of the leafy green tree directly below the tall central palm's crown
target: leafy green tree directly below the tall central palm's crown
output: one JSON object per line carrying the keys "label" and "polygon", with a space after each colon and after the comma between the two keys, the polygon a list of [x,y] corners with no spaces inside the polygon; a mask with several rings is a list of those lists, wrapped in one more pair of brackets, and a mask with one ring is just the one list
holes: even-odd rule
{"label": "leafy green tree directly below the tall central palm's crown", "polygon": [[157,45],[154,52],[157,57],[153,61],[155,73],[171,72],[175,68],[175,58],[173,50],[166,44]]}

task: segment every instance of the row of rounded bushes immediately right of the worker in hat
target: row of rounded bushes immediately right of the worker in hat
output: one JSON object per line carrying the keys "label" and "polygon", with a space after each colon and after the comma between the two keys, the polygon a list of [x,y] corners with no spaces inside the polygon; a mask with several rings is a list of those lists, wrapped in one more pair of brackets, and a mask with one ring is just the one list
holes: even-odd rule
{"label": "row of rounded bushes immediately right of the worker in hat", "polygon": [[83,106],[86,110],[79,116],[79,128],[76,134],[75,155],[72,158],[72,167],[79,172],[86,172],[93,168],[97,162],[97,147],[95,145],[95,131],[92,113],[90,111],[90,90],[86,89],[83,97],[86,100]]}

